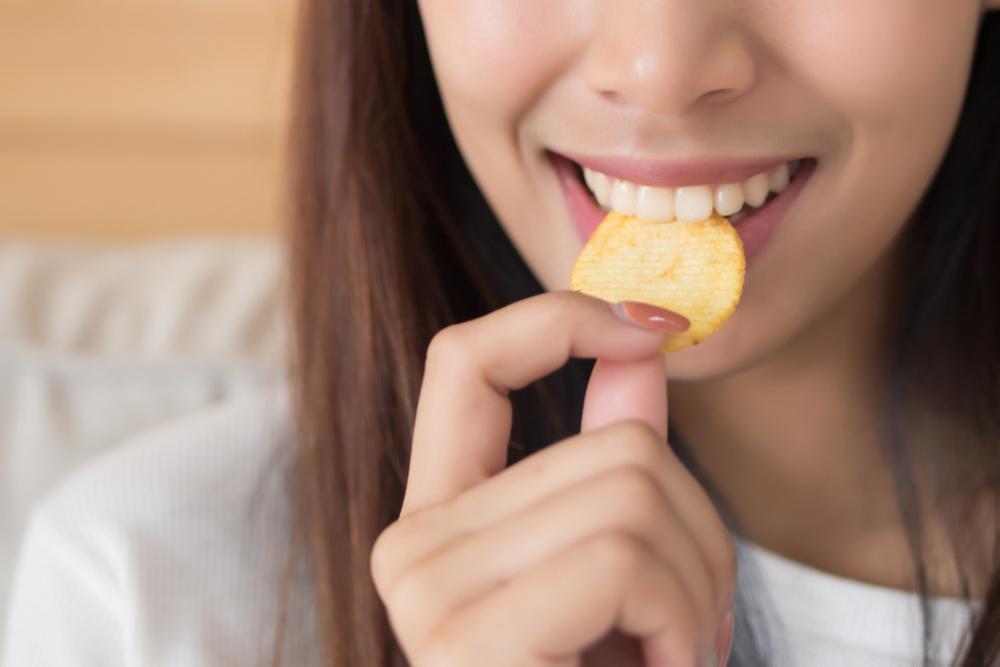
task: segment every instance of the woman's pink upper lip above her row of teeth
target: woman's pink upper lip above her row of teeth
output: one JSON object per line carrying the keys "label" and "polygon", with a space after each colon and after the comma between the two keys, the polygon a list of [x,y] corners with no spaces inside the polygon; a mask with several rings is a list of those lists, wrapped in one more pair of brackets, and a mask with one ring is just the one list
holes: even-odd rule
{"label": "woman's pink upper lip above her row of teeth", "polygon": [[755,174],[801,159],[801,155],[770,157],[715,157],[683,161],[662,161],[622,155],[580,155],[552,151],[592,171],[636,185],[679,187],[740,183]]}

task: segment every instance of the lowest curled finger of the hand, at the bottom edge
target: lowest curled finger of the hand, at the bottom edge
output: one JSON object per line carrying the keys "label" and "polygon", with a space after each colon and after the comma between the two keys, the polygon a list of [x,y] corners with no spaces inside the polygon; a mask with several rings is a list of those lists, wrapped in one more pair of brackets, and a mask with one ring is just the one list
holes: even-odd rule
{"label": "lowest curled finger of the hand, at the bottom edge", "polygon": [[640,638],[645,664],[696,665],[712,642],[697,618],[669,564],[632,535],[607,532],[460,609],[417,654],[426,665],[578,665],[619,628]]}

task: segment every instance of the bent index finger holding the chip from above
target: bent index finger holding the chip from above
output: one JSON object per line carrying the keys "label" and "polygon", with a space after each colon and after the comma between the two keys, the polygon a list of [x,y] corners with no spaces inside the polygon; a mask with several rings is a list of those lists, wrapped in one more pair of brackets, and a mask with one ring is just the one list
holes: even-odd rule
{"label": "bent index finger holding the chip from above", "polygon": [[[687,328],[683,318],[676,328]],[[538,294],[443,329],[427,351],[401,516],[503,470],[511,391],[571,357],[649,357],[659,353],[665,335],[619,319],[606,301],[569,290]]]}

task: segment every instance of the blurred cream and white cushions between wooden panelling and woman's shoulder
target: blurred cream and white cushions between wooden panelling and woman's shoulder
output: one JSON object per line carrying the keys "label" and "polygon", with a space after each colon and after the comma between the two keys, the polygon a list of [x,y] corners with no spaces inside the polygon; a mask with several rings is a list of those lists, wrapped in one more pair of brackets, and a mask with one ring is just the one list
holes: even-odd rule
{"label": "blurred cream and white cushions between wooden panelling and woman's shoulder", "polygon": [[43,493],[140,431],[280,377],[281,283],[267,237],[0,242],[0,626]]}

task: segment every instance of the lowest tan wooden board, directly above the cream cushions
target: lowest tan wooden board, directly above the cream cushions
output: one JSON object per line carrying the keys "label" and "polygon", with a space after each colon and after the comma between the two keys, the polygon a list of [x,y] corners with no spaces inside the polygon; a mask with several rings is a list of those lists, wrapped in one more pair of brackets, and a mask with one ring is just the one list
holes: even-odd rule
{"label": "lowest tan wooden board, directly above the cream cushions", "polygon": [[0,154],[0,228],[90,238],[270,233],[280,176],[266,152]]}

